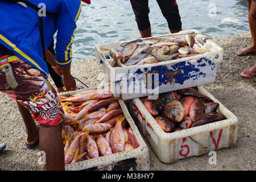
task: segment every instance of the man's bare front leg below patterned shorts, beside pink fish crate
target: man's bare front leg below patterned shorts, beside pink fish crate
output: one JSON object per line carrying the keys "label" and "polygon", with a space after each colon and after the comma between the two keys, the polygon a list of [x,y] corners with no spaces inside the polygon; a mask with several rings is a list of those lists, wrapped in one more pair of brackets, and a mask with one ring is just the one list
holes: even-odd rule
{"label": "man's bare front leg below patterned shorts, beside pink fish crate", "polygon": [[47,171],[64,171],[64,146],[61,137],[62,124],[40,127],[40,151],[46,152]]}

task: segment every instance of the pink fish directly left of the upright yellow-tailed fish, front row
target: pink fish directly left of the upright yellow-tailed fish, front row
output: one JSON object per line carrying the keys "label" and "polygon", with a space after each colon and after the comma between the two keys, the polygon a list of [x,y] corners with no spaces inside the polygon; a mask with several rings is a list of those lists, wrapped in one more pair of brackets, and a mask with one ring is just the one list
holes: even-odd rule
{"label": "pink fish directly left of the upright yellow-tailed fish, front row", "polygon": [[108,139],[106,139],[102,135],[97,136],[96,143],[101,156],[113,154]]}

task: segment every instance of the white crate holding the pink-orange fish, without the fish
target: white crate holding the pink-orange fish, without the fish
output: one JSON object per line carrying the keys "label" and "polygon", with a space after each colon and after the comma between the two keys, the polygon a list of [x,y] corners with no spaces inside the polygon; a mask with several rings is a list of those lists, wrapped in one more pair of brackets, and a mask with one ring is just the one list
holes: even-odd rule
{"label": "white crate holding the pink-orange fish, without the fish", "polygon": [[[73,96],[85,90],[91,90],[97,88],[80,89],[72,92],[63,92],[59,96]],[[137,143],[138,148],[118,152],[115,154],[110,154],[106,156],[100,156],[99,158],[83,160],[81,162],[76,162],[73,164],[65,164],[65,170],[67,171],[81,171],[81,170],[108,170],[108,171],[148,171],[150,170],[150,161],[147,144],[141,137],[137,126],[135,125],[133,118],[127,109],[125,102],[123,100],[118,100],[119,104],[123,110],[123,114],[126,117],[126,121],[131,126],[133,134]]]}

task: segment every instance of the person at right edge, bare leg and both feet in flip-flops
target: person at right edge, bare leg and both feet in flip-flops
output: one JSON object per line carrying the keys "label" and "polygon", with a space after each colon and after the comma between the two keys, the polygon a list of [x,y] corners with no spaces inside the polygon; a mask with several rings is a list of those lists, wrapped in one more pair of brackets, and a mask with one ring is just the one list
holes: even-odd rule
{"label": "person at right edge, bare leg and both feet in flip-flops", "polygon": [[[256,55],[256,1],[255,0],[246,0],[248,7],[248,20],[251,30],[251,46],[247,48],[241,48],[238,52],[238,56],[248,56]],[[241,72],[243,77],[253,77],[256,75],[256,65],[251,68],[246,68]]]}

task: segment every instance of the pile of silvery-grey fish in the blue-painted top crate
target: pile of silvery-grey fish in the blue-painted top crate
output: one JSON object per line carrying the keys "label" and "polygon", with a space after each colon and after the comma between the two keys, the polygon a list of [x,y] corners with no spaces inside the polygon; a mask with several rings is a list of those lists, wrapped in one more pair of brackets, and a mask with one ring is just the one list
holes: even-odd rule
{"label": "pile of silvery-grey fish in the blue-painted top crate", "polygon": [[164,36],[144,39],[141,42],[132,41],[119,49],[108,49],[113,58],[113,60],[109,60],[109,64],[112,67],[126,67],[204,54],[210,51],[203,46],[205,40],[206,38],[196,36],[193,32],[183,38]]}

